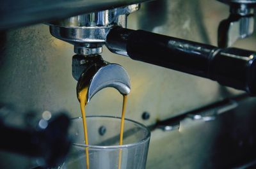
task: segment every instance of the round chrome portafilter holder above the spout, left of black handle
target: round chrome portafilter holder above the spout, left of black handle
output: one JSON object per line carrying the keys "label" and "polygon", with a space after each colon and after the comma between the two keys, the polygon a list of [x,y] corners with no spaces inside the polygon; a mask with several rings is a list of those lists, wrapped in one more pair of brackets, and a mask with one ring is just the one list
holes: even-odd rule
{"label": "round chrome portafilter holder above the spout, left of black handle", "polygon": [[76,54],[100,54],[111,27],[126,27],[127,15],[139,8],[139,4],[132,4],[53,21],[49,23],[50,32],[55,38],[74,45]]}

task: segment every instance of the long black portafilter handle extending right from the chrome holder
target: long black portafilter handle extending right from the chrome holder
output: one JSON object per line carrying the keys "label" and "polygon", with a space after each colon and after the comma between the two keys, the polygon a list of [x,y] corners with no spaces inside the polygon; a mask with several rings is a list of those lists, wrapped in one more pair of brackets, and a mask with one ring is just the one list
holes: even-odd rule
{"label": "long black portafilter handle extending right from the chrome holder", "polygon": [[256,94],[256,52],[218,48],[147,31],[115,27],[106,45],[116,54],[156,64]]}

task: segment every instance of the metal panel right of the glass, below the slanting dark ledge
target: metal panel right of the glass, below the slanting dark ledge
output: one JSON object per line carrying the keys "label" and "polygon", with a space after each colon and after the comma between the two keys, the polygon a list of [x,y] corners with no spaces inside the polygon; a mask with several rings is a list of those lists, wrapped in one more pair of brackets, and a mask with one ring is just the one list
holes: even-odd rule
{"label": "metal panel right of the glass, below the slanting dark ledge", "polygon": [[239,101],[214,121],[184,119],[179,130],[156,129],[147,168],[239,168],[255,161],[255,101]]}

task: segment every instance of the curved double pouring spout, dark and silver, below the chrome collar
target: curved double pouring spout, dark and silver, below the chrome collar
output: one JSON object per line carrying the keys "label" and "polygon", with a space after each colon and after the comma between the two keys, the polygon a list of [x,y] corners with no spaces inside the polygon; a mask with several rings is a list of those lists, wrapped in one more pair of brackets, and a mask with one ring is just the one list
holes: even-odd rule
{"label": "curved double pouring spout, dark and silver, below the chrome collar", "polygon": [[[77,59],[79,56],[75,55],[74,57]],[[73,63],[74,62],[75,61],[73,60]],[[75,64],[73,64],[73,69],[75,68],[74,66]],[[86,96],[87,103],[97,92],[106,87],[113,87],[123,95],[129,94],[131,91],[129,75],[127,71],[125,71],[125,69],[119,64],[106,62],[100,55],[94,55],[87,56],[86,62],[83,66],[84,71],[81,73],[81,76],[77,81],[76,89],[78,99],[79,92],[84,88],[88,90]],[[76,71],[76,73],[78,73],[78,71]],[[73,76],[74,75],[75,73]]]}

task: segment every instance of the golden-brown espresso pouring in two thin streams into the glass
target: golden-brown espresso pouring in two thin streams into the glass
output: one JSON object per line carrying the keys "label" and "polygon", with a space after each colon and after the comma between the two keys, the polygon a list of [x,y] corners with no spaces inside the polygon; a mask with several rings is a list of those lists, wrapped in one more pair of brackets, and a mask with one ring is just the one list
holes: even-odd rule
{"label": "golden-brown espresso pouring in two thin streams into the glass", "polygon": [[[83,127],[84,127],[84,140],[85,144],[89,145],[88,143],[88,133],[87,133],[87,124],[86,124],[86,114],[85,114],[85,107],[87,104],[87,91],[88,87],[84,87],[79,94],[78,98],[80,101],[80,108],[81,108],[81,113],[83,117]],[[125,116],[125,109],[126,109],[126,104],[127,104],[127,95],[123,95],[123,107],[122,107],[122,119],[121,119],[121,124],[120,124],[120,142],[119,145],[123,144],[123,133],[124,133],[124,116]],[[89,169],[89,151],[88,147],[85,148],[85,153],[86,153],[86,168]],[[119,156],[118,156],[118,169],[121,168],[121,161],[122,161],[122,150],[120,149],[119,151]]]}

